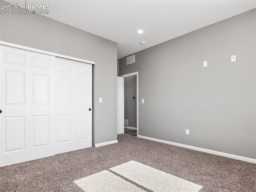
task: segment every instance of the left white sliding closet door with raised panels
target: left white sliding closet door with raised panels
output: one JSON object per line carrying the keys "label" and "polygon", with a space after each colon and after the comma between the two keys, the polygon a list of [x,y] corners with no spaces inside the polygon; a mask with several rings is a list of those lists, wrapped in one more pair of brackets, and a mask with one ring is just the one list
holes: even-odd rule
{"label": "left white sliding closet door with raised panels", "polygon": [[54,56],[1,46],[0,163],[55,153]]}

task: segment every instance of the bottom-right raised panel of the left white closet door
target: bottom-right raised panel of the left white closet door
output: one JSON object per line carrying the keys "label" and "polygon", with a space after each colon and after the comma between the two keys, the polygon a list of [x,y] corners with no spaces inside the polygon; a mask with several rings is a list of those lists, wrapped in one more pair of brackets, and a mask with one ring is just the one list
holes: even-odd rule
{"label": "bottom-right raised panel of the left white closet door", "polygon": [[49,145],[49,115],[33,116],[33,147]]}

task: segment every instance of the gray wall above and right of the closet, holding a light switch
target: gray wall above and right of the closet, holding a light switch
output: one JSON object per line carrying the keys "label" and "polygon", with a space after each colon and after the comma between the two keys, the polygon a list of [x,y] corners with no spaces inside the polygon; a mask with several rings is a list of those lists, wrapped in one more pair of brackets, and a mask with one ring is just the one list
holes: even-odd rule
{"label": "gray wall above and right of the closet, holding a light switch", "polygon": [[[0,6],[9,3],[0,1]],[[117,139],[117,44],[56,20],[33,14],[0,14],[0,40],[95,61],[93,143]],[[98,103],[99,97],[103,103]]]}

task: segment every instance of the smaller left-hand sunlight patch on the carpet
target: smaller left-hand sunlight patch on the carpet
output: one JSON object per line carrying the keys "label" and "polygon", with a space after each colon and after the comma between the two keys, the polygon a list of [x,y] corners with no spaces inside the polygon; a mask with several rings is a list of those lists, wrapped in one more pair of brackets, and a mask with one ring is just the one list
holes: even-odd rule
{"label": "smaller left-hand sunlight patch on the carpet", "polygon": [[108,170],[78,179],[74,183],[85,192],[145,192]]}

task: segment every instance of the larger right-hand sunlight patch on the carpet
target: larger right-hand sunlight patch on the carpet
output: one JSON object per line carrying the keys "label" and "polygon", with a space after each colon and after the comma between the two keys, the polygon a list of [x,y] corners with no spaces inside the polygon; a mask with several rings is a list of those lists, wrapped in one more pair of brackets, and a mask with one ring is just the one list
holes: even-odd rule
{"label": "larger right-hand sunlight patch on the carpet", "polygon": [[198,192],[202,186],[136,161],[110,168],[113,172],[154,192]]}

